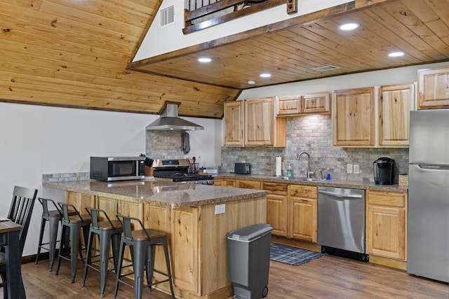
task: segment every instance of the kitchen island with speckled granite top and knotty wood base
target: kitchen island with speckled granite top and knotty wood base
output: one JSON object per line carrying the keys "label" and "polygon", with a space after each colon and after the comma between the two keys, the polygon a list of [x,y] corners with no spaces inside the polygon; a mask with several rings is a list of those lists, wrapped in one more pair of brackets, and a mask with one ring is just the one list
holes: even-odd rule
{"label": "kitchen island with speckled granite top and knotty wood base", "polygon": [[[167,232],[177,298],[231,298],[226,234],[266,223],[264,190],[173,183],[166,179],[65,181],[43,183],[43,187],[65,190],[66,202],[81,212],[87,206],[98,207],[111,218],[116,213],[135,216],[147,228]],[[216,214],[217,204],[225,205],[224,213]],[[155,268],[165,271],[163,262],[163,252],[156,251]],[[155,279],[159,278],[155,273]],[[168,292],[168,284],[159,286]]]}

